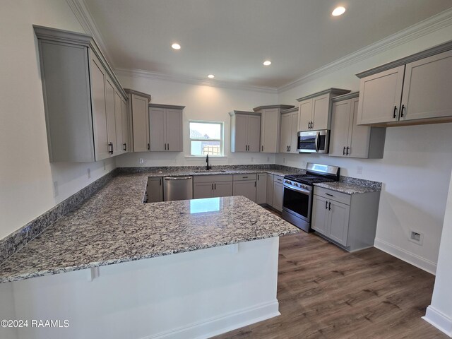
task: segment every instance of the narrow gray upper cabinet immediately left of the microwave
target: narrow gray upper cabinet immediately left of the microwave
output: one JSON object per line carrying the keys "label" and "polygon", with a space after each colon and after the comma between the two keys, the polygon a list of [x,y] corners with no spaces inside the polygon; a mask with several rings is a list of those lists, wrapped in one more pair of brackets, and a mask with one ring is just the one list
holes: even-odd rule
{"label": "narrow gray upper cabinet immediately left of the microwave", "polygon": [[281,112],[280,153],[298,153],[298,118],[297,107]]}

